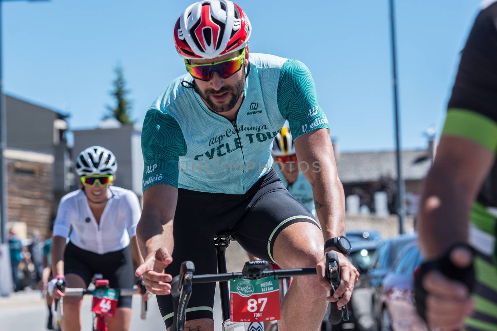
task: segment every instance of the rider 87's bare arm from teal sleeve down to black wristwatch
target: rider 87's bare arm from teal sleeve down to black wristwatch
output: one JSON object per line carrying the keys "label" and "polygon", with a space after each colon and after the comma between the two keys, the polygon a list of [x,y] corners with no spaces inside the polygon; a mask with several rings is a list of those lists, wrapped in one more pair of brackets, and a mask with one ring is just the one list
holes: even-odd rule
{"label": "rider 87's bare arm from teal sleeve down to black wristwatch", "polygon": [[[336,171],[330,131],[319,129],[303,134],[295,140],[295,151],[299,163],[309,165],[304,175],[312,186],[325,240],[345,235],[345,197]],[[302,170],[306,168],[301,166]]]}

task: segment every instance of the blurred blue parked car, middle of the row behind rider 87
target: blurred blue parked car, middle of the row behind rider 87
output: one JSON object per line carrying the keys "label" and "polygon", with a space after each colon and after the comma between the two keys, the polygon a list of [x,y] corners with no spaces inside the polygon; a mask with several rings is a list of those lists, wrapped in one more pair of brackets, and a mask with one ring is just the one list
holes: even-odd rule
{"label": "blurred blue parked car, middle of the row behind rider 87", "polygon": [[376,249],[372,257],[371,265],[367,270],[359,268],[359,272],[363,274],[360,278],[361,287],[371,289],[371,318],[373,321],[378,321],[377,310],[378,301],[380,298],[380,287],[383,278],[390,271],[395,259],[399,256],[400,251],[409,243],[416,239],[415,234],[403,234],[394,238],[384,240]]}

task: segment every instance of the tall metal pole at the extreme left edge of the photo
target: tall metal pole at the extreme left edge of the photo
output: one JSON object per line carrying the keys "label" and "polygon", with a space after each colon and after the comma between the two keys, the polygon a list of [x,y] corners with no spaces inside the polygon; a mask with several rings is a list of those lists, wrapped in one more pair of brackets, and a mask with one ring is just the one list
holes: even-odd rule
{"label": "tall metal pole at the extreme left edge of the photo", "polygon": [[7,148],[7,124],[4,97],[2,93],[2,40],[1,40],[1,24],[2,24],[2,1],[0,0],[0,231],[1,243],[7,242],[7,233],[5,225],[7,223],[7,167],[3,157],[3,151]]}

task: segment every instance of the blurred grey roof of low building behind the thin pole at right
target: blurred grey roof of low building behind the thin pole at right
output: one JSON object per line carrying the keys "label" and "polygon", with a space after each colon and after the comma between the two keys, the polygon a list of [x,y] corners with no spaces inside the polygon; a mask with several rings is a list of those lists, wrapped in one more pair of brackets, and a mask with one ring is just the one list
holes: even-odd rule
{"label": "blurred grey roof of low building behind the thin pole at right", "polygon": [[[405,180],[423,179],[431,164],[425,149],[404,150],[401,158]],[[336,159],[336,167],[343,184],[375,182],[382,176],[397,179],[395,151],[342,152]]]}

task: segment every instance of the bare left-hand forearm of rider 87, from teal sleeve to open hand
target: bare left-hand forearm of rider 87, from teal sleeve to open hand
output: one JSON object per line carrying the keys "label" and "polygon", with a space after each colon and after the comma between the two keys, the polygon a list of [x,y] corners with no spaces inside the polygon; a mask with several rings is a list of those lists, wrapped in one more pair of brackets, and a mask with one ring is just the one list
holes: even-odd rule
{"label": "bare left-hand forearm of rider 87, from teal sleeve to open hand", "polygon": [[172,254],[172,224],[178,189],[170,185],[155,185],[143,193],[143,210],[136,228],[140,251],[148,254],[166,247]]}

